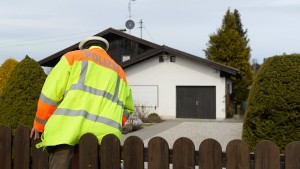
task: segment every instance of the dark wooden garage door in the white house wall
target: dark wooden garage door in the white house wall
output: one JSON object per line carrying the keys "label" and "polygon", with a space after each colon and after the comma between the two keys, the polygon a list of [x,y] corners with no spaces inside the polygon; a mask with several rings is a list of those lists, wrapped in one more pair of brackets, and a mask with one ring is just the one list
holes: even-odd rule
{"label": "dark wooden garage door in the white house wall", "polygon": [[216,119],[216,87],[177,86],[176,117]]}

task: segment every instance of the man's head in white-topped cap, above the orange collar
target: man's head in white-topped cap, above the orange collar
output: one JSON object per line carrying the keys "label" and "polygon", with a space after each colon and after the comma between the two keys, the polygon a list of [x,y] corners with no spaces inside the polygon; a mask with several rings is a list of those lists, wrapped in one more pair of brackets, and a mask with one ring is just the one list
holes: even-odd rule
{"label": "man's head in white-topped cap, above the orange collar", "polygon": [[100,46],[102,47],[104,50],[108,50],[109,48],[109,43],[106,39],[102,38],[102,37],[99,37],[99,36],[91,36],[91,37],[88,37],[84,40],[82,40],[78,47],[79,49],[88,49],[89,47],[91,46]]}

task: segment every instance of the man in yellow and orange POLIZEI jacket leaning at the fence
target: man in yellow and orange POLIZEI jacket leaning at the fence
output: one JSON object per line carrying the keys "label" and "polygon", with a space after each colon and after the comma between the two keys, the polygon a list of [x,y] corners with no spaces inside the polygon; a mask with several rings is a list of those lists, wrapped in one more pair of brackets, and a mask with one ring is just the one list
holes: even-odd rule
{"label": "man in yellow and orange POLIZEI jacket leaning at the fence", "polygon": [[133,113],[124,70],[106,53],[109,43],[89,37],[68,52],[48,75],[30,137],[50,153],[50,169],[69,168],[73,146],[85,133],[101,143],[107,134],[122,137],[122,125]]}

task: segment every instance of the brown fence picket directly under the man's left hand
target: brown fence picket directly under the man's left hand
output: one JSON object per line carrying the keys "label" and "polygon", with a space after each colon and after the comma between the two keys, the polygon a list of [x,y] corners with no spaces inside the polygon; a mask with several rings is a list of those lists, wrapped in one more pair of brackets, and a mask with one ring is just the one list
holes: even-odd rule
{"label": "brown fence picket directly under the man's left hand", "polygon": [[48,153],[42,148],[37,149],[35,147],[40,142],[41,140],[31,140],[32,169],[48,169],[49,166]]}

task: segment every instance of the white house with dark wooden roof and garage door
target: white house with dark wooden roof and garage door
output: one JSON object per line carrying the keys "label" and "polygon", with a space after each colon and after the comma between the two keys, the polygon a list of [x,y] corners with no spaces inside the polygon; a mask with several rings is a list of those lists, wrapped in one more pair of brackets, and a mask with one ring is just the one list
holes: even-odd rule
{"label": "white house with dark wooden roof and garage door", "polygon": [[[108,54],[125,70],[136,106],[152,107],[162,118],[226,118],[225,95],[238,70],[160,46],[119,30],[96,34],[110,43]],[[53,67],[78,43],[41,61]]]}

